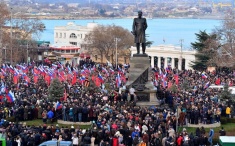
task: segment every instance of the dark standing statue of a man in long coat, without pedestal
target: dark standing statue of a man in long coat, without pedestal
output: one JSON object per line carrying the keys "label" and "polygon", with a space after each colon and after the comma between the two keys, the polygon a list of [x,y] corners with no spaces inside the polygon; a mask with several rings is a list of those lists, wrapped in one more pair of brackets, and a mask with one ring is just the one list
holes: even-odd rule
{"label": "dark standing statue of a man in long coat, without pedestal", "polygon": [[145,30],[147,29],[147,21],[142,18],[142,11],[138,11],[138,18],[134,18],[132,26],[132,34],[135,36],[135,43],[137,48],[137,54],[140,54],[140,43],[142,45],[142,53],[145,54]]}

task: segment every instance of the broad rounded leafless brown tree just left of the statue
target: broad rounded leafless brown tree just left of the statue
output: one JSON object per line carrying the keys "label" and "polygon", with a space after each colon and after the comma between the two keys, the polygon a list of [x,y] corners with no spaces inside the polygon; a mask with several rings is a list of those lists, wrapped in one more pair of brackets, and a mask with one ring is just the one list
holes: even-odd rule
{"label": "broad rounded leafless brown tree just left of the statue", "polygon": [[101,56],[101,62],[104,56],[114,61],[116,47],[118,51],[130,48],[134,45],[134,37],[127,29],[120,26],[99,25],[86,36],[85,43],[90,48],[90,52]]}

